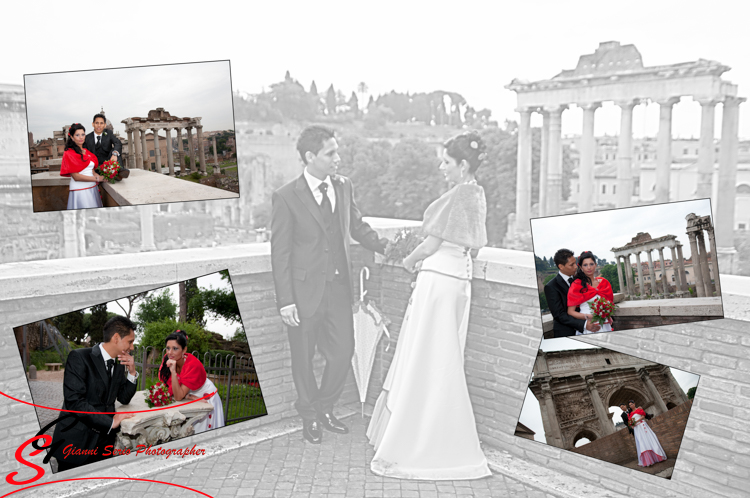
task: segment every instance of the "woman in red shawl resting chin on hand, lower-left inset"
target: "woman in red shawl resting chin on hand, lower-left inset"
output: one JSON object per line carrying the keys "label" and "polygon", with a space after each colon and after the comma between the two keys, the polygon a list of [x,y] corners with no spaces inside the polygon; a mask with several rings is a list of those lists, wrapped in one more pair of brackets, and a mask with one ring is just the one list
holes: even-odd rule
{"label": "woman in red shawl resting chin on hand, lower-left inset", "polygon": [[165,339],[167,354],[159,369],[159,379],[167,385],[175,401],[195,400],[214,394],[207,401],[214,409],[193,425],[195,434],[224,426],[224,409],[216,386],[206,376],[201,361],[187,352],[187,334],[176,330]]}

